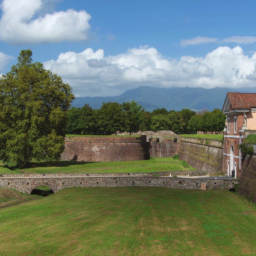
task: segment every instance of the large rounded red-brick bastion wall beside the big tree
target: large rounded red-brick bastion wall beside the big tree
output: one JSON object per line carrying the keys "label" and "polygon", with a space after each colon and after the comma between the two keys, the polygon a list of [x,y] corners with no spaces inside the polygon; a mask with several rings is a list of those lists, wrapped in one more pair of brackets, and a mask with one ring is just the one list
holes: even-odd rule
{"label": "large rounded red-brick bastion wall beside the big tree", "polygon": [[65,138],[64,161],[107,162],[136,161],[149,158],[146,142],[138,137]]}

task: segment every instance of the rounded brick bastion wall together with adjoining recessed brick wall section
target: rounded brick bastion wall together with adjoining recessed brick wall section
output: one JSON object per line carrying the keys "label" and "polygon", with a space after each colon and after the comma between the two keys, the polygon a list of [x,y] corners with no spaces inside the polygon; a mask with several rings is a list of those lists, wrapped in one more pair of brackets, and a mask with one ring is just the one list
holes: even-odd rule
{"label": "rounded brick bastion wall together with adjoining recessed brick wall section", "polygon": [[179,152],[179,143],[172,139],[149,142],[141,137],[74,137],[65,138],[64,161],[107,162],[136,161],[149,157],[173,157]]}

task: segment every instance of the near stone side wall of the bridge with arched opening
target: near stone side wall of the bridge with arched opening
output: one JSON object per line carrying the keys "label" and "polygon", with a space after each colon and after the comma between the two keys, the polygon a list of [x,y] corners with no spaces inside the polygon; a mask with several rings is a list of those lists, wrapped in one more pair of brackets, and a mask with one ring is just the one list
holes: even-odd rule
{"label": "near stone side wall of the bridge with arched opening", "polygon": [[71,187],[167,187],[179,189],[230,189],[239,181],[220,179],[180,179],[170,177],[8,177],[0,178],[0,186],[30,194],[37,187],[49,186],[54,193]]}

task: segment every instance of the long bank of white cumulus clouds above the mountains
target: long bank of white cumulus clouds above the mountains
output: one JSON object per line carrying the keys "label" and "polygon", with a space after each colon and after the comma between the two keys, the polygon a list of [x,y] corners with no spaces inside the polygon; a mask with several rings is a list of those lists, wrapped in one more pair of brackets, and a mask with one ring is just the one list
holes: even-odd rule
{"label": "long bank of white cumulus clouds above the mountains", "polygon": [[44,63],[60,75],[77,96],[118,95],[141,85],[156,87],[255,87],[256,53],[240,46],[220,46],[203,57],[165,58],[156,48],[140,46],[118,55],[87,48],[61,53]]}

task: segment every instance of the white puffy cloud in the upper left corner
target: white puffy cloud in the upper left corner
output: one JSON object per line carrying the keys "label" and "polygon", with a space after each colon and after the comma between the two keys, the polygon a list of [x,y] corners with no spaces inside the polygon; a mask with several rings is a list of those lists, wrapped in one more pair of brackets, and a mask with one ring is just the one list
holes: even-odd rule
{"label": "white puffy cloud in the upper left corner", "polygon": [[13,44],[88,39],[90,14],[85,10],[58,11],[35,18],[43,0],[4,0],[0,39]]}

